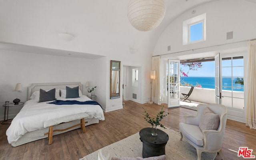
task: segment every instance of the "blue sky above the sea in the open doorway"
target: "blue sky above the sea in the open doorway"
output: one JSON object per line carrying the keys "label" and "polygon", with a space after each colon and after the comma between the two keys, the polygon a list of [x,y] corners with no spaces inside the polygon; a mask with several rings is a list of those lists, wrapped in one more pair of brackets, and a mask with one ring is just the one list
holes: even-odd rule
{"label": "blue sky above the sea in the open doorway", "polygon": [[215,77],[214,61],[202,62],[202,68],[198,68],[197,70],[189,70],[189,67],[185,67],[182,65],[180,65],[180,68],[182,68],[185,73],[189,71],[189,77]]}

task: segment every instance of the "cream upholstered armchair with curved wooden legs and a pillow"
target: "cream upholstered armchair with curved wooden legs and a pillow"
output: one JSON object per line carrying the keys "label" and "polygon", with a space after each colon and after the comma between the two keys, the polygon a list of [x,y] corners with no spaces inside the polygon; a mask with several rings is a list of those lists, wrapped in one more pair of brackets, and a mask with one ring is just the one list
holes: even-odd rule
{"label": "cream upholstered armchair with curved wooden legs and a pillow", "polygon": [[227,109],[220,104],[199,104],[196,116],[185,116],[180,122],[180,135],[196,148],[198,160],[202,152],[218,152],[224,159],[221,146],[227,120]]}

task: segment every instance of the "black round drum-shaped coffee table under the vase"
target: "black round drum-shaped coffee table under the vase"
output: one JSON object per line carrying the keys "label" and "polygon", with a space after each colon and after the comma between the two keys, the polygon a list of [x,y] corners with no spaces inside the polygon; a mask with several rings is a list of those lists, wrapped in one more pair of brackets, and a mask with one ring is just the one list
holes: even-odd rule
{"label": "black round drum-shaped coffee table under the vase", "polygon": [[142,157],[154,157],[165,154],[165,145],[169,140],[168,134],[162,130],[156,130],[157,136],[152,136],[152,128],[143,128],[140,130],[140,140],[143,143]]}

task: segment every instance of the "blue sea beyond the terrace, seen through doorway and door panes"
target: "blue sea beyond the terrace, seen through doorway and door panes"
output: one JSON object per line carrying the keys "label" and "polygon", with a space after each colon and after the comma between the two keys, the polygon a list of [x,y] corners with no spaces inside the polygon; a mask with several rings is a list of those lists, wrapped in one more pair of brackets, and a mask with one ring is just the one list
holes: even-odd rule
{"label": "blue sea beyond the terrace, seen through doorway and door panes", "polygon": [[[182,84],[183,81],[189,84],[193,84],[193,86],[196,86],[196,82],[198,84],[201,84],[202,88],[215,88],[215,77],[180,77],[180,82]],[[244,91],[244,85],[235,84],[236,78],[222,78],[222,90],[232,90],[232,83],[233,83],[233,91]]]}

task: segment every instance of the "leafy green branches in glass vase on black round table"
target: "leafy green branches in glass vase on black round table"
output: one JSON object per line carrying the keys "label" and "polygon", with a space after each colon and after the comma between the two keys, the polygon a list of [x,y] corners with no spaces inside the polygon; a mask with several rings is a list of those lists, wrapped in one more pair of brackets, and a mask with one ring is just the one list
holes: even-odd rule
{"label": "leafy green branches in glass vase on black round table", "polygon": [[[142,108],[143,108],[143,107],[142,107]],[[143,108],[143,109],[144,109],[144,108]],[[151,118],[145,109],[144,109],[144,113],[145,113],[145,114],[143,114],[143,115],[145,116],[144,119],[145,119],[149,124],[151,124],[151,126],[152,126],[151,135],[152,135],[152,136],[157,136],[156,127],[159,125],[160,127],[165,128],[164,125],[160,124],[160,121],[163,120],[164,117],[167,116],[167,114],[164,114],[163,108],[161,108],[160,112],[156,115],[156,118]],[[169,114],[169,113],[168,113],[168,114]]]}

